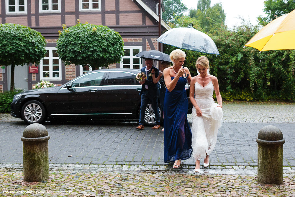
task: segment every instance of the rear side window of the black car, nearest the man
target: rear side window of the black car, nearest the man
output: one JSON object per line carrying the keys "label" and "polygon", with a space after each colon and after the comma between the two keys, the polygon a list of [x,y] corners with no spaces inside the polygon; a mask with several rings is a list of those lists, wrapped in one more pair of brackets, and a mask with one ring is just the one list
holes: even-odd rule
{"label": "rear side window of the black car, nearest the man", "polygon": [[124,72],[109,72],[107,85],[134,85],[135,75]]}

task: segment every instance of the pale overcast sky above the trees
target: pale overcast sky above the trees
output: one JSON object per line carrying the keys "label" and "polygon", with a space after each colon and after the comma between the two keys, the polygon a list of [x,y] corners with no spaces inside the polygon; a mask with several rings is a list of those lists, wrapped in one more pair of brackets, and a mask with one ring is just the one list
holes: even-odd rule
{"label": "pale overcast sky above the trees", "polygon": [[[238,19],[239,16],[248,20],[253,25],[257,25],[257,17],[259,15],[265,16],[263,12],[264,0],[211,0],[211,5],[221,3],[225,17],[225,24],[232,28],[234,25],[239,25],[241,20]],[[188,9],[196,9],[198,1],[197,0],[181,0],[183,4],[187,6]]]}

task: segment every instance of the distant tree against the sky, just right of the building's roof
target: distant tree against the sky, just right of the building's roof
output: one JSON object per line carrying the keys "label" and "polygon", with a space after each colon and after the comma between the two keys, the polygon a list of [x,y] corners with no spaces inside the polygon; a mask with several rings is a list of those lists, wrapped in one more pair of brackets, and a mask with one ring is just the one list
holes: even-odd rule
{"label": "distant tree against the sky, just right of the building's roof", "polygon": [[182,16],[187,11],[187,7],[181,3],[181,0],[164,0],[165,11],[163,12],[163,20],[165,22],[173,21],[174,16]]}

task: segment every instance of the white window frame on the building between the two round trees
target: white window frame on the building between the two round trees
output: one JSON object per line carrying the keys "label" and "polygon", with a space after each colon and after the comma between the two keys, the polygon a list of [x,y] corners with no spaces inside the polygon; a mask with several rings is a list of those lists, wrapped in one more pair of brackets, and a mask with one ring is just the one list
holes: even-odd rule
{"label": "white window frame on the building between the two round trees", "polygon": [[53,71],[53,65],[52,65],[52,60],[53,59],[57,59],[57,57],[53,57],[52,56],[52,51],[53,50],[57,50],[56,47],[45,47],[46,50],[49,50],[49,57],[44,57],[43,59],[49,59],[49,77],[43,77],[43,59],[40,62],[40,80],[46,80],[46,81],[61,81],[62,77],[61,77],[61,59],[58,57],[58,76],[59,77],[53,77],[53,72],[57,72],[57,71]]}

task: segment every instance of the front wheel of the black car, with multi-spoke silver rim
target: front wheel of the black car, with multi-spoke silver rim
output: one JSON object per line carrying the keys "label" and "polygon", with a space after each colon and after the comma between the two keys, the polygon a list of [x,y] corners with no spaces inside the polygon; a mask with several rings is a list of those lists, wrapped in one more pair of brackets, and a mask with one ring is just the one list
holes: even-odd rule
{"label": "front wheel of the black car, with multi-spoke silver rim", "polygon": [[22,106],[22,119],[27,124],[42,123],[46,118],[45,108],[37,100],[28,101]]}

